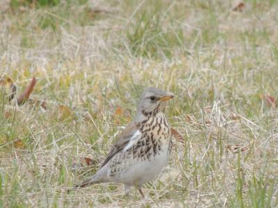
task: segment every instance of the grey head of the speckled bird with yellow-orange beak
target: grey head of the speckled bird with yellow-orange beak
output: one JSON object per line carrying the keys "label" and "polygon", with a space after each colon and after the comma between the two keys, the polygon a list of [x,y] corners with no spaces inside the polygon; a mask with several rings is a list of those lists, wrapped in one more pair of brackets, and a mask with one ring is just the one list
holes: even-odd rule
{"label": "grey head of the speckled bird with yellow-orange beak", "polygon": [[164,92],[162,89],[153,87],[145,89],[137,107],[137,117],[146,116],[147,114],[163,110],[165,101],[172,98],[174,98],[173,94]]}

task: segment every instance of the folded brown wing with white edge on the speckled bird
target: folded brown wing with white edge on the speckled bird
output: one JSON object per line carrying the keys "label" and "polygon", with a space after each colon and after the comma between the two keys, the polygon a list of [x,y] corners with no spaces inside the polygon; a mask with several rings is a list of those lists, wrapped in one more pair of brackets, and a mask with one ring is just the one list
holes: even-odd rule
{"label": "folded brown wing with white edge on the speckled bird", "polygon": [[129,123],[129,125],[127,125],[123,132],[119,135],[116,143],[112,146],[110,152],[104,160],[104,163],[101,165],[101,168],[105,166],[105,164],[121,150],[125,151],[133,146],[133,144],[138,141],[139,134],[140,132],[136,128],[135,123],[133,121]]}

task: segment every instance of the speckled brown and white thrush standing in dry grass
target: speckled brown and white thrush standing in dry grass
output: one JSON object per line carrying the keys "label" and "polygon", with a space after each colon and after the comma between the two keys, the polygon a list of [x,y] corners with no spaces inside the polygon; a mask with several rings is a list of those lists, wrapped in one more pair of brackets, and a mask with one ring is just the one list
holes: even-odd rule
{"label": "speckled brown and white thrush standing in dry grass", "polygon": [[166,101],[174,98],[162,89],[149,87],[142,92],[136,116],[111,147],[99,170],[74,188],[115,182],[124,184],[126,195],[136,187],[155,180],[167,166],[172,149],[170,125],[164,114]]}

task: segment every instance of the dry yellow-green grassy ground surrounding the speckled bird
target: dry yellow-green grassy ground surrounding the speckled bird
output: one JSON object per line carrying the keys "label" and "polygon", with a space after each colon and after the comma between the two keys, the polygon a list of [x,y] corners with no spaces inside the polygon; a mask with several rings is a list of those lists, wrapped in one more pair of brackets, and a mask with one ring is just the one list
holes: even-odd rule
{"label": "dry yellow-green grassy ground surrounding the speckled bird", "polygon": [[[277,1],[30,2],[0,3],[0,207],[278,207]],[[147,198],[71,190],[151,86],[183,139]]]}

